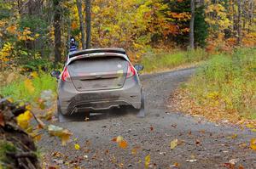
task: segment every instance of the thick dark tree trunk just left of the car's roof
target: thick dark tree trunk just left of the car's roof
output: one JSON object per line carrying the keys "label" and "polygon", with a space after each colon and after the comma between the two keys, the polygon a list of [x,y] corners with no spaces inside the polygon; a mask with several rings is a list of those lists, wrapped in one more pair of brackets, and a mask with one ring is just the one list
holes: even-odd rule
{"label": "thick dark tree trunk just left of the car's roof", "polygon": [[55,63],[61,62],[61,0],[54,0],[54,27],[55,27]]}

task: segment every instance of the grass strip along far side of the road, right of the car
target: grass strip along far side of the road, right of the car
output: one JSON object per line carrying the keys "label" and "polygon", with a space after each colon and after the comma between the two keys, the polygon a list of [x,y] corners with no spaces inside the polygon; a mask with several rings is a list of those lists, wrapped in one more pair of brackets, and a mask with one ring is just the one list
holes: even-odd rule
{"label": "grass strip along far side of the road, right of the car", "polygon": [[141,64],[144,66],[143,73],[170,70],[181,65],[195,64],[207,59],[208,54],[203,49],[174,50],[171,52],[150,51],[143,56]]}

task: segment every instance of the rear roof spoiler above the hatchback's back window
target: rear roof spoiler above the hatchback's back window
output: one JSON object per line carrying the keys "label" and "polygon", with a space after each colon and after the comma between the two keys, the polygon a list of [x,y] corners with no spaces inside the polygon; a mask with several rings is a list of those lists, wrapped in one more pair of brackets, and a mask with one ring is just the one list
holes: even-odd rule
{"label": "rear roof spoiler above the hatchback's back window", "polygon": [[85,50],[76,51],[73,54],[69,54],[69,58],[84,54],[97,54],[97,53],[114,53],[114,54],[126,54],[123,48],[90,48]]}

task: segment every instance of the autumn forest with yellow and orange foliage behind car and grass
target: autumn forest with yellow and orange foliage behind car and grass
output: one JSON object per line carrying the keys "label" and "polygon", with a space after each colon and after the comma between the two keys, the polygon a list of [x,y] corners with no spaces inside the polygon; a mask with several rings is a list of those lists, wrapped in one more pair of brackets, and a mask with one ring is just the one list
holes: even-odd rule
{"label": "autumn forest with yellow and orange foliage behind car and grass", "polygon": [[255,11],[253,0],[0,0],[0,69],[56,65],[70,37],[79,48],[86,37],[91,48],[125,48],[135,61],[154,48],[255,47]]}

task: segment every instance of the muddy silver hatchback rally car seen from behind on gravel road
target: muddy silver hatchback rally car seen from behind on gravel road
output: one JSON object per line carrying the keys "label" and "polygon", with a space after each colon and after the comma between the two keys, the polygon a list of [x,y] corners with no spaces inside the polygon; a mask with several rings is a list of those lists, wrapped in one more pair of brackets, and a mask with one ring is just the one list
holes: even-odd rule
{"label": "muddy silver hatchback rally car seen from behind on gravel road", "polygon": [[69,54],[64,69],[52,71],[58,78],[58,112],[72,115],[91,110],[108,110],[131,105],[143,106],[138,71],[121,48],[94,48]]}

